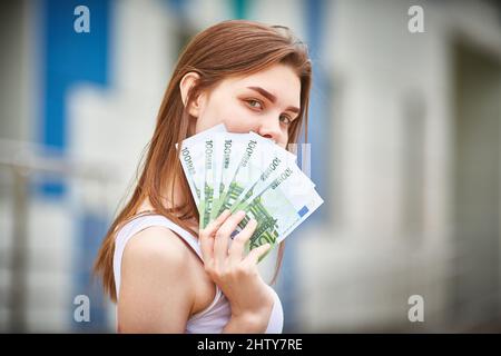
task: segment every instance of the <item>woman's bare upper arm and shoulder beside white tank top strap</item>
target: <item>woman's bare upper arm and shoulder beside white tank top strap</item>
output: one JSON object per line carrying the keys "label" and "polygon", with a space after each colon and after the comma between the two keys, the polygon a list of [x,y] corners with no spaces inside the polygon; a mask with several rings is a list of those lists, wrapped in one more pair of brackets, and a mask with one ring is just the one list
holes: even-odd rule
{"label": "woman's bare upper arm and shoulder beside white tank top strap", "polygon": [[184,333],[195,301],[189,251],[173,231],[150,227],[134,236],[121,261],[120,333]]}

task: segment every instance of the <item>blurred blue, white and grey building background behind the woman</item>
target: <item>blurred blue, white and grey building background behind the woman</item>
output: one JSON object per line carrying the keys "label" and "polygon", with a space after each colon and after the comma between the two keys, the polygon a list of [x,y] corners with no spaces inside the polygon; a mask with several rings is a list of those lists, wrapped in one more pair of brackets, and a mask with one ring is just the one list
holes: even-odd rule
{"label": "blurred blue, white and grey building background behind the woman", "polygon": [[[81,4],[88,33],[73,29]],[[501,330],[499,2],[1,7],[1,332],[114,332],[90,266],[179,50],[230,18],[291,27],[314,62],[311,172],[325,204],[286,241],[285,330]],[[78,295],[89,323],[73,319]],[[413,295],[423,323],[409,320]]]}

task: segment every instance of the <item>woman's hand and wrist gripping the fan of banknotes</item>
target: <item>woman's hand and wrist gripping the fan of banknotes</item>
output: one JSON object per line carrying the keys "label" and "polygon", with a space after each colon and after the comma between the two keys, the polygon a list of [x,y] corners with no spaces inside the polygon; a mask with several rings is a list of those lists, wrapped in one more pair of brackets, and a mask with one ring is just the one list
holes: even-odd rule
{"label": "woman's hand and wrist gripping the fan of banknotes", "polygon": [[232,307],[232,318],[245,320],[252,330],[266,329],[273,308],[273,294],[261,278],[257,261],[271,248],[262,245],[244,256],[244,247],[256,229],[257,222],[250,219],[238,233],[229,248],[232,233],[245,217],[244,211],[230,215],[225,210],[216,220],[199,231],[205,270],[222,289]]}

